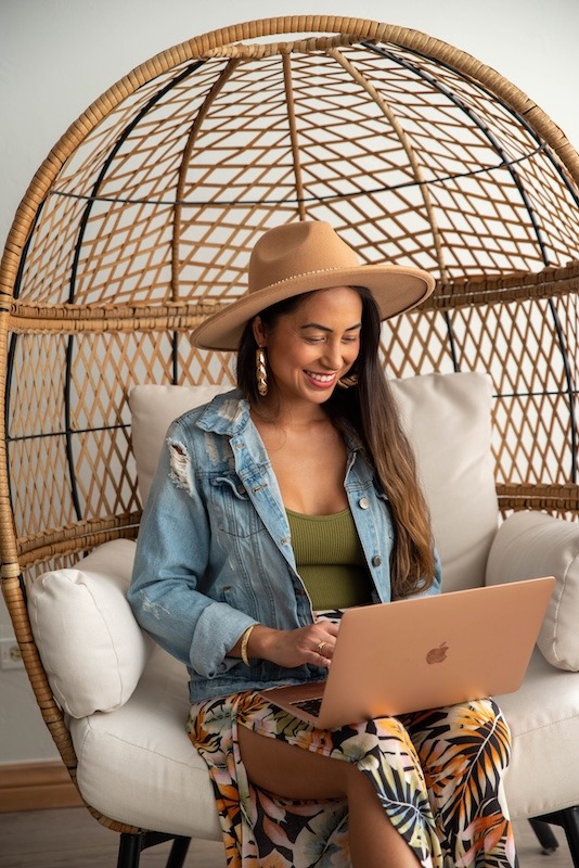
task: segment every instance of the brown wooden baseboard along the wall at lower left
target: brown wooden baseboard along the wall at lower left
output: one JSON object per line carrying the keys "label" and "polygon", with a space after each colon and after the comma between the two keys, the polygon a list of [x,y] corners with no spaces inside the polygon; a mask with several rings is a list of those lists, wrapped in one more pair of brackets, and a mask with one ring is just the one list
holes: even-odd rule
{"label": "brown wooden baseboard along the wall at lower left", "polygon": [[0,765],[0,813],[81,805],[77,789],[60,762]]}

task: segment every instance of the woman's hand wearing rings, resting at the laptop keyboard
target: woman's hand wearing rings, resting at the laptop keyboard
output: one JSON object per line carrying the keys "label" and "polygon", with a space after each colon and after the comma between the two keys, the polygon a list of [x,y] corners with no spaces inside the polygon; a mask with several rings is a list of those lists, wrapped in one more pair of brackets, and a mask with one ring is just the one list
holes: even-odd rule
{"label": "woman's hand wearing rings, resting at the laptop keyboard", "polygon": [[[256,624],[247,642],[247,656],[270,660],[294,668],[304,663],[329,667],[334,655],[339,625],[320,618],[295,630],[274,630]],[[236,647],[232,649],[233,653]]]}

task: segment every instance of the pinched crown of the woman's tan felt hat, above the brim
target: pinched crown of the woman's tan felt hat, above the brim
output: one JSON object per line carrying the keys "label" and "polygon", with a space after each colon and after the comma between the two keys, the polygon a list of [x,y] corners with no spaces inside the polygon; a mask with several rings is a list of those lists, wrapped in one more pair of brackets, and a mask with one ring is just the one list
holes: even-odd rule
{"label": "pinched crown of the woman's tan felt hat, above the brim", "polygon": [[308,220],[278,226],[256,243],[249,259],[249,292],[316,271],[356,268],[358,256],[330,224]]}

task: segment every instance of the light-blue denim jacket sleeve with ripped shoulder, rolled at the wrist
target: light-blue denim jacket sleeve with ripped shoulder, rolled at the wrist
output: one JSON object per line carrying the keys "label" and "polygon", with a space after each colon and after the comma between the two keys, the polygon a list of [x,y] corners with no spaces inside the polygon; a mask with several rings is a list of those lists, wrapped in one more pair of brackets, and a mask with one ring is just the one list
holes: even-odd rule
{"label": "light-blue denim jacket sleeve with ripped shoulder, rolled at the wrist", "polygon": [[[162,647],[211,679],[236,664],[227,652],[256,618],[215,592],[220,584],[227,590],[227,583],[207,583],[216,559],[194,458],[182,425],[173,422],[143,511],[128,598]],[[227,564],[224,550],[221,561],[218,576]]]}

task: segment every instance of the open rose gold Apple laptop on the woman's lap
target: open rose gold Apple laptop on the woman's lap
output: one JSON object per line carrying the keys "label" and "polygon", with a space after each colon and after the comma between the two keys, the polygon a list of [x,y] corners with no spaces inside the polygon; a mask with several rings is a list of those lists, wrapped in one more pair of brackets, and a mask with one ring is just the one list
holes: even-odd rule
{"label": "open rose gold Apple laptop on the woman's lap", "polygon": [[262,691],[322,729],[518,690],[553,576],[348,609],[327,678]]}

